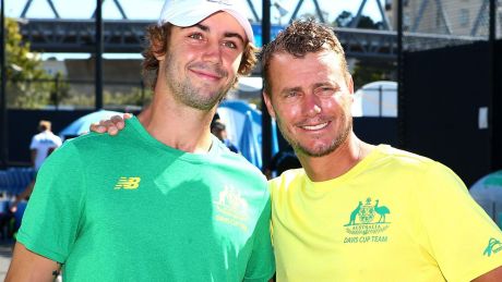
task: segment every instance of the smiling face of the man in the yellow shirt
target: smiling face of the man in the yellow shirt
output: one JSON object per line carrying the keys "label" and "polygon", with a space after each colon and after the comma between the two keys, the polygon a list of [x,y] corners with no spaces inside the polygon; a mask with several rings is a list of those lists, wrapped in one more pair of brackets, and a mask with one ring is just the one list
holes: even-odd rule
{"label": "smiling face of the man in the yellow shirt", "polygon": [[277,52],[270,60],[268,112],[297,154],[325,156],[352,128],[352,82],[339,54],[321,50],[294,57]]}

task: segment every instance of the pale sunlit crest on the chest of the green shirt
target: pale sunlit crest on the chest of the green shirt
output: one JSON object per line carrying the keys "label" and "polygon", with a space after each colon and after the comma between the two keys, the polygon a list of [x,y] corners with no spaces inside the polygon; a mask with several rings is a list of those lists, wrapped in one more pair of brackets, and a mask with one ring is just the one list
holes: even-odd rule
{"label": "pale sunlit crest on the chest of the green shirt", "polygon": [[248,231],[248,209],[249,205],[241,197],[240,192],[232,186],[225,186],[219,192],[218,200],[213,201],[216,208],[216,220],[240,228],[242,231]]}

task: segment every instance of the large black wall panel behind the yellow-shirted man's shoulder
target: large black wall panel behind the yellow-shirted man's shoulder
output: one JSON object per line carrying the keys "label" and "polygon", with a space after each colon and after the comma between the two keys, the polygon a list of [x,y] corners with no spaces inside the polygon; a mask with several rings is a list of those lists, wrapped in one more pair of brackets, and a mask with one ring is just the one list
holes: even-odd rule
{"label": "large black wall panel behind the yellow-shirted man's shoulder", "polygon": [[405,53],[405,148],[446,164],[468,186],[490,172],[490,132],[479,127],[490,63],[488,42]]}

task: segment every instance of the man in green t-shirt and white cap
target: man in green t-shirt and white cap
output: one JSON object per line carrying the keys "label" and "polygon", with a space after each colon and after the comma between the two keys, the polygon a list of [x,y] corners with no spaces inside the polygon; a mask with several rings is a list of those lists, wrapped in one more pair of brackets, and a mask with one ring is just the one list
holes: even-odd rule
{"label": "man in green t-shirt and white cap", "polygon": [[[147,29],[148,122],[64,143],[44,164],[5,281],[268,281],[266,179],[211,134],[255,63],[243,1],[167,0]],[[246,180],[246,181],[242,181]]]}

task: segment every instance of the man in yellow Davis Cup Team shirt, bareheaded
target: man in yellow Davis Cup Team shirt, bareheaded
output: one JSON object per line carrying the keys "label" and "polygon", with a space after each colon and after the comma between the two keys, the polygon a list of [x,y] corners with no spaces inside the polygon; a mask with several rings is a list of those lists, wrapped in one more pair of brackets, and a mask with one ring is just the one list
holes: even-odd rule
{"label": "man in yellow Davis Cup Team shirt, bareheaded", "polygon": [[277,282],[502,281],[502,232],[455,173],[354,134],[330,27],[294,22],[261,59],[266,107],[302,164],[270,182]]}

